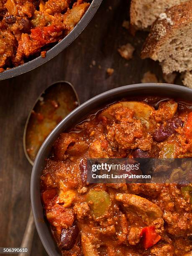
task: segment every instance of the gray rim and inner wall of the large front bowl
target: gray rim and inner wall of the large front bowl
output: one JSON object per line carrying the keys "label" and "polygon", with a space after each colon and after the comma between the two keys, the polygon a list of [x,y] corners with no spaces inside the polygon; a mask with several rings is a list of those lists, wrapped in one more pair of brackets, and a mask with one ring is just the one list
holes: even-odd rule
{"label": "gray rim and inner wall of the large front bowl", "polygon": [[[162,96],[172,97],[178,100],[189,100],[192,102],[192,90],[179,85],[172,84],[134,84],[104,92],[92,99],[84,102],[78,108],[72,111],[64,118],[56,128],[46,138],[46,141],[38,151],[33,171],[31,175],[31,204],[33,216],[36,224],[38,235],[41,238],[49,256],[60,256],[61,253],[57,248],[54,238],[51,235],[49,225],[44,218],[44,211],[41,203],[40,194],[40,176],[45,166],[45,159],[49,156],[51,145],[54,143],[59,134],[84,119],[90,112],[97,110],[102,105],[108,104],[124,97],[135,96]],[[42,221],[45,220],[45,221]]]}

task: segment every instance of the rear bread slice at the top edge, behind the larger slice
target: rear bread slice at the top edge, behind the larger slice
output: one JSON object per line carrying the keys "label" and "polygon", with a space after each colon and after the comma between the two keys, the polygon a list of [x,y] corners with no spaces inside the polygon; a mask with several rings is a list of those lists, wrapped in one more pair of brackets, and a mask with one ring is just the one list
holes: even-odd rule
{"label": "rear bread slice at the top edge, behind the larger slice", "polygon": [[131,0],[131,24],[138,29],[151,26],[160,13],[188,0]]}

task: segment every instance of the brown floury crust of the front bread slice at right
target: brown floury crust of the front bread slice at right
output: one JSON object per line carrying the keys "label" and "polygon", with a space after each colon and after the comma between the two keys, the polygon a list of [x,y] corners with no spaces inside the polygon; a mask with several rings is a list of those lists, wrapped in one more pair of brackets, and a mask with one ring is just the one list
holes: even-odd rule
{"label": "brown floury crust of the front bread slice at right", "polygon": [[[158,18],[146,39],[141,51],[141,58],[158,60],[158,53],[161,46],[178,30],[190,25],[192,22],[192,0],[180,5],[173,6],[166,10],[164,16]],[[184,35],[185,36],[185,35]]]}

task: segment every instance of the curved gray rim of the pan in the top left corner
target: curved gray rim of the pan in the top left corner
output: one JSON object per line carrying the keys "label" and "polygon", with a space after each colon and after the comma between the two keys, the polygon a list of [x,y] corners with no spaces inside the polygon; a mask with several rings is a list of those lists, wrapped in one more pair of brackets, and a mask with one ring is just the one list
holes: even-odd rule
{"label": "curved gray rim of the pan in the top left corner", "polygon": [[99,8],[102,0],[92,0],[90,7],[88,8],[87,12],[84,14],[82,19],[79,21],[77,26],[66,36],[64,37],[58,44],[52,47],[46,53],[46,57],[42,58],[41,56],[24,63],[18,67],[14,67],[12,69],[8,69],[2,73],[0,73],[0,80],[8,79],[11,77],[16,77],[20,74],[26,73],[35,69],[36,67],[41,66],[45,62],[49,61],[61,51],[63,51],[67,46],[69,46],[72,41],[79,36],[80,33],[84,30],[84,28],[88,25],[92,17],[95,15],[97,9]]}

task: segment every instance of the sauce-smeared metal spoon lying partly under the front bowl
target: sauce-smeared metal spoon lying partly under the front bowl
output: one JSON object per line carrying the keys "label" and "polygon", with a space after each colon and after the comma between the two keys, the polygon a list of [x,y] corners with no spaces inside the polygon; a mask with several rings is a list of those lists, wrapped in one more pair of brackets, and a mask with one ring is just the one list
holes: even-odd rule
{"label": "sauce-smeared metal spoon lying partly under the front bowl", "polygon": [[[41,93],[28,115],[23,133],[23,149],[32,166],[39,148],[49,133],[78,105],[77,92],[73,85],[67,81],[55,82]],[[34,230],[35,225],[31,210],[20,246],[27,247],[30,253]]]}

